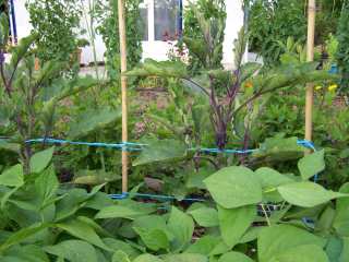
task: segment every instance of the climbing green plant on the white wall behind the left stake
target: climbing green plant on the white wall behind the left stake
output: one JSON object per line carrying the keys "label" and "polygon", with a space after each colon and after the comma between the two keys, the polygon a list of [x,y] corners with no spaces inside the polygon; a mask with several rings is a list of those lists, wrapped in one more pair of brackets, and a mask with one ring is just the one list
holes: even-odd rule
{"label": "climbing green plant on the white wall behind the left stake", "polygon": [[[125,27],[128,46],[128,67],[135,67],[142,58],[143,27],[140,22],[140,4],[143,0],[127,0],[125,3]],[[116,0],[97,1],[95,14],[97,33],[103,36],[107,47],[106,67],[111,79],[118,78],[120,73],[120,45],[119,45],[119,21],[118,2]]]}

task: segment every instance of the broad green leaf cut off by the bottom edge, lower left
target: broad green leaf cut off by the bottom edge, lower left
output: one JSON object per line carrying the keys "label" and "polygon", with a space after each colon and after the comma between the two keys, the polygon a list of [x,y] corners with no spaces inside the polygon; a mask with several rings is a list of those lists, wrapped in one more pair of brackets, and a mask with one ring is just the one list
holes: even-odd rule
{"label": "broad green leaf cut off by the bottom edge, lower left", "polygon": [[70,262],[98,262],[95,248],[82,240],[67,240],[55,246],[44,247],[43,249]]}

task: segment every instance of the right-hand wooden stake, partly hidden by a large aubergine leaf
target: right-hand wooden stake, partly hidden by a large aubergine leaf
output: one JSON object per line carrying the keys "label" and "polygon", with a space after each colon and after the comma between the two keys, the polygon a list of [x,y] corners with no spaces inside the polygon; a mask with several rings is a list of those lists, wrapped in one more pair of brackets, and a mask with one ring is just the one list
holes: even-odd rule
{"label": "right-hand wooden stake, partly hidden by a large aubergine leaf", "polygon": [[[306,60],[309,62],[314,61],[315,16],[316,16],[315,0],[309,0],[309,4],[308,4],[308,41],[306,41]],[[313,83],[309,83],[306,85],[306,95],[305,95],[305,140],[308,140],[308,141],[312,141],[313,99],[314,99],[314,85],[313,85]]]}

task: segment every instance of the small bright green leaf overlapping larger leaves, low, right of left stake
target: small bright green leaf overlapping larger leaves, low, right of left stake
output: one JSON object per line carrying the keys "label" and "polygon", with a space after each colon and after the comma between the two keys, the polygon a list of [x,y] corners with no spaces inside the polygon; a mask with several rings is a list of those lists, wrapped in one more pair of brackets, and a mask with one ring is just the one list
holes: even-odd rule
{"label": "small bright green leaf overlapping larger leaves, low, right of left stake", "polygon": [[169,240],[167,238],[166,233],[161,229],[147,229],[141,227],[133,227],[133,229],[136,231],[136,234],[140,235],[142,241],[148,249],[153,251],[158,251],[160,249],[169,249]]}

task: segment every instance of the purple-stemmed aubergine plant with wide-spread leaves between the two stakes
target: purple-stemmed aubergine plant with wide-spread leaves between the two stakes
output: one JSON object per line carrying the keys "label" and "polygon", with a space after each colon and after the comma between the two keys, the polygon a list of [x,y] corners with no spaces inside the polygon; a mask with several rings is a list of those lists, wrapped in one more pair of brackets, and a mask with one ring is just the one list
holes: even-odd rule
{"label": "purple-stemmed aubergine plant with wide-spread leaves between the two stakes", "polygon": [[[198,17],[204,39],[197,41],[185,38],[184,41],[186,48],[209,67],[210,61],[215,60],[215,39],[219,37],[220,31],[213,21],[206,21],[202,15]],[[281,88],[333,78],[327,72],[316,71],[315,63],[288,64],[272,70],[262,70],[257,63],[243,63],[246,41],[248,35],[242,28],[234,44],[232,71],[210,68],[202,71],[200,75],[191,76],[185,64],[179,61],[158,62],[148,59],[127,74],[173,78],[191,88],[198,90],[209,104],[209,119],[215,131],[216,145],[224,150],[229,135],[234,131],[233,121],[238,120],[239,114],[246,106],[252,106],[254,100]]]}

